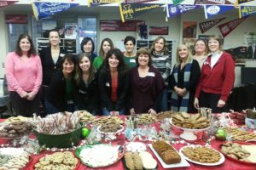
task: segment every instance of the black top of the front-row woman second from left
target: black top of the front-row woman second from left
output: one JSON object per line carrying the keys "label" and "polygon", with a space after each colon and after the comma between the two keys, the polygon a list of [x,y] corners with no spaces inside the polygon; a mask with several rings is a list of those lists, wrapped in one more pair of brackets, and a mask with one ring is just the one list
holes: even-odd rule
{"label": "black top of the front-row woman second from left", "polygon": [[97,73],[95,78],[88,83],[86,87],[83,80],[81,80],[81,85],[77,86],[74,92],[75,105],[80,111],[98,111],[100,106],[99,90]]}

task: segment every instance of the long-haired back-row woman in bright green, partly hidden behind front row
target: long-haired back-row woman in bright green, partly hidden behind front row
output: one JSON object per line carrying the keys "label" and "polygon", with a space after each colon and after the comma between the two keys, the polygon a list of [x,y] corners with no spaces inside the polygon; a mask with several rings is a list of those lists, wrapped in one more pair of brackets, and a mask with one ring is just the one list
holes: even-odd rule
{"label": "long-haired back-row woman in bright green, partly hidden behind front row", "polygon": [[99,56],[93,60],[93,66],[96,69],[102,66],[103,60],[110,49],[113,49],[113,42],[110,38],[106,37],[102,40]]}

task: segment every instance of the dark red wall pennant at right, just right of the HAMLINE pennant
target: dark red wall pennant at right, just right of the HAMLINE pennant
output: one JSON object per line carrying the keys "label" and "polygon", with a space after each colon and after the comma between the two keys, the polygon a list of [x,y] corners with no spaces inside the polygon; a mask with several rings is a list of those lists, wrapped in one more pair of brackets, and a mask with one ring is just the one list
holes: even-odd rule
{"label": "dark red wall pennant at right, just right of the HAMLINE pennant", "polygon": [[230,22],[226,22],[222,25],[218,26],[219,31],[221,32],[223,37],[226,37],[230,34],[231,31],[235,30],[237,26],[241,24],[242,21],[246,20],[247,17],[231,20]]}

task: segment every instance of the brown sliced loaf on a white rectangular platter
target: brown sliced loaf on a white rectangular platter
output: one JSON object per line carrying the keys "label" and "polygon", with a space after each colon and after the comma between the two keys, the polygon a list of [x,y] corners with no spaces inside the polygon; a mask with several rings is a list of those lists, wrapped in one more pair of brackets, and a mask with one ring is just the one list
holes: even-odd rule
{"label": "brown sliced loaf on a white rectangular platter", "polygon": [[[166,145],[165,141],[157,141],[156,143],[148,144],[148,147],[150,150],[153,151],[154,155],[157,157],[157,159],[160,161],[160,164],[164,168],[172,168],[172,167],[189,167],[189,162],[185,160],[183,156],[181,156],[175,148],[172,147],[171,144]],[[163,158],[165,153],[158,153],[157,151],[157,145],[165,144],[165,146],[162,146],[163,149],[160,149],[162,152],[169,152],[166,153],[166,159]],[[161,147],[161,146],[160,146]],[[173,158],[173,159],[172,159]]]}

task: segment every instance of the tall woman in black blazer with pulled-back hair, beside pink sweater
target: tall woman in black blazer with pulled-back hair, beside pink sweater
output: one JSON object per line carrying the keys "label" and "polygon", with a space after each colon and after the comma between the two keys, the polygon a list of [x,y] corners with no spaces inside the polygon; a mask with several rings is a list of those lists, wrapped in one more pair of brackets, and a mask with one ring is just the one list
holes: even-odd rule
{"label": "tall woman in black blazer with pulled-back hair, beside pink sweater", "polygon": [[51,77],[55,72],[61,68],[61,59],[66,54],[66,50],[60,47],[60,34],[57,30],[49,31],[49,47],[43,48],[40,51],[40,58],[43,69],[43,82],[42,82],[42,103],[46,114],[50,112],[50,104],[46,98],[46,91],[49,86]]}

